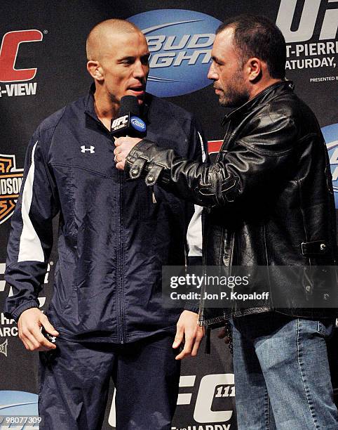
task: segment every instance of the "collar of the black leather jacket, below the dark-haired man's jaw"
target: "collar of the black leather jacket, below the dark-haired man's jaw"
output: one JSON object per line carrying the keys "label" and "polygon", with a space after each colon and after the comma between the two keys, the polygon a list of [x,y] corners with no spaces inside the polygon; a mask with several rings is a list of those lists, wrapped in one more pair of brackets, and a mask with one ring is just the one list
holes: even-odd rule
{"label": "collar of the black leather jacket, below the dark-haired man's jaw", "polygon": [[226,124],[230,119],[233,119],[238,115],[245,115],[245,113],[249,110],[252,110],[254,107],[261,103],[266,103],[280,93],[283,93],[285,91],[293,91],[294,87],[295,85],[292,81],[276,82],[276,84],[268,86],[266,89],[258,93],[257,96],[255,96],[251,100],[248,100],[240,107],[231,110],[228,115],[225,115],[224,119],[222,120],[222,126],[224,126],[224,124]]}

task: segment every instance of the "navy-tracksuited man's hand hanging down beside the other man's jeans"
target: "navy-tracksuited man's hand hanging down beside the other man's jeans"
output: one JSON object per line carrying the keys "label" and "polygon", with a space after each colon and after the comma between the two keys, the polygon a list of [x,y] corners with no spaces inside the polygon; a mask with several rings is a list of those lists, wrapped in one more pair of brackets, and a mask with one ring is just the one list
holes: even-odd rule
{"label": "navy-tracksuited man's hand hanging down beside the other man's jeans", "polygon": [[198,314],[191,311],[183,311],[177,321],[177,330],[173,348],[178,348],[184,343],[183,350],[176,356],[176,360],[197,355],[198,347],[204,336],[204,327],[198,325]]}

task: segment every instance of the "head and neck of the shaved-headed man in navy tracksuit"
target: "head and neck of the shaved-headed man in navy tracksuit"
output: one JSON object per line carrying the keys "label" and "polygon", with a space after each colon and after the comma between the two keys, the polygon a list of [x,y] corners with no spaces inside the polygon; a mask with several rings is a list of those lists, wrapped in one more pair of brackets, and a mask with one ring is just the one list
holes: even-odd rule
{"label": "head and neck of the shaved-headed man in navy tracksuit", "polygon": [[150,56],[147,39],[131,22],[106,20],[90,31],[86,50],[87,70],[95,82],[95,109],[109,128],[123,96],[135,96],[140,105],[144,102]]}

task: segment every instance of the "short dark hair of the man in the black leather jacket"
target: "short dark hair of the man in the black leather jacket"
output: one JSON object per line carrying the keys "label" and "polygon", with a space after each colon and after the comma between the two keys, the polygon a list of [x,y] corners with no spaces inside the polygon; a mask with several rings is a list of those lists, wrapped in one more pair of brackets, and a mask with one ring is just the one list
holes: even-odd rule
{"label": "short dark hair of the man in the black leather jacket", "polygon": [[235,51],[243,64],[249,58],[257,57],[266,62],[272,78],[285,77],[285,39],[272,21],[262,15],[238,15],[219,25],[216,34],[228,27],[234,29]]}

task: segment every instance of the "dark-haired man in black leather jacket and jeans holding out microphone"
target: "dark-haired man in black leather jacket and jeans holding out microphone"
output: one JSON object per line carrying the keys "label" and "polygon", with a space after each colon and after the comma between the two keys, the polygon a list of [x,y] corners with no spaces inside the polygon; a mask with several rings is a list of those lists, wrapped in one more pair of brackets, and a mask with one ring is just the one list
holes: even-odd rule
{"label": "dark-haired man in black leather jacket and jeans holding out microphone", "polygon": [[304,267],[334,266],[337,255],[320,127],[285,81],[285,40],[266,18],[241,15],[219,27],[208,77],[219,103],[235,108],[224,119],[217,162],[189,162],[150,141],[121,138],[117,167],[208,208],[205,265],[303,273],[302,282],[274,285],[283,306],[201,306],[203,325],[231,321],[238,428],[337,429],[325,344],[337,284],[304,275]]}

